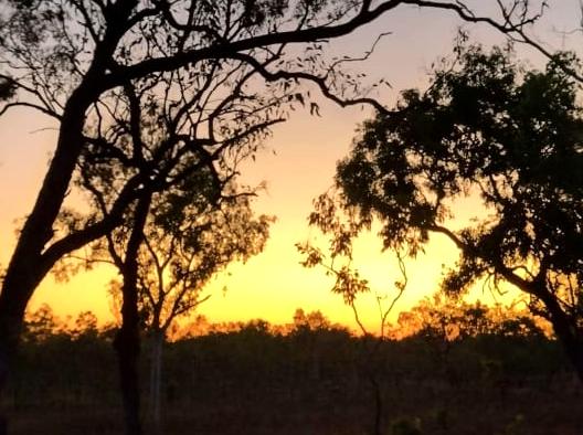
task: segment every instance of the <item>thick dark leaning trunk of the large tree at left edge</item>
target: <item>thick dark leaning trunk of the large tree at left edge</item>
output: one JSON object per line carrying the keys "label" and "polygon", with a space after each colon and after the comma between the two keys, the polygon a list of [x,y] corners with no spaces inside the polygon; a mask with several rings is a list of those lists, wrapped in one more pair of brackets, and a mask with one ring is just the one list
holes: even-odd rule
{"label": "thick dark leaning trunk of the large tree at left edge", "polygon": [[[60,259],[47,259],[42,254],[53,236],[53,225],[82,150],[86,110],[102,91],[105,91],[96,84],[102,83],[103,72],[109,67],[109,59],[127,30],[126,20],[137,0],[118,3],[113,11],[117,20],[107,26],[85,77],[65,104],[54,155],[34,206],[19,234],[4,275],[0,294],[0,402],[18,348],[26,305],[54,262]],[[4,412],[0,409],[0,435],[8,433],[7,427]]]}

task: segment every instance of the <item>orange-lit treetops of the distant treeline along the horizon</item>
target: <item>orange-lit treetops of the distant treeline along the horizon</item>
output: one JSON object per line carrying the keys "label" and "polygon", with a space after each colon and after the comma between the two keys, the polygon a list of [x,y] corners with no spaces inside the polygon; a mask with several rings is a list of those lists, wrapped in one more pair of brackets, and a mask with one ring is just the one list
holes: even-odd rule
{"label": "orange-lit treetops of the distant treeline along the horizon", "polygon": [[[168,333],[170,341],[180,341],[197,336],[239,332],[250,326],[261,325],[273,336],[287,336],[304,329],[337,330],[354,335],[348,327],[331,322],[319,310],[305,312],[303,308],[297,308],[290,320],[283,325],[272,325],[263,319],[247,322],[212,322],[205,316],[199,315],[181,325],[173,323]],[[97,316],[92,311],[82,311],[74,319],[61,319],[50,305],[43,304],[25,316],[22,336],[26,343],[51,340],[60,336],[70,340],[87,337],[110,340],[117,328],[115,322],[99,325]],[[480,335],[523,338],[547,336],[554,339],[550,325],[542,318],[533,317],[526,309],[502,305],[487,306],[479,300],[468,304],[448,299],[439,294],[422,299],[409,311],[401,311],[396,322],[385,325],[384,330],[391,340],[432,336],[455,341]]]}

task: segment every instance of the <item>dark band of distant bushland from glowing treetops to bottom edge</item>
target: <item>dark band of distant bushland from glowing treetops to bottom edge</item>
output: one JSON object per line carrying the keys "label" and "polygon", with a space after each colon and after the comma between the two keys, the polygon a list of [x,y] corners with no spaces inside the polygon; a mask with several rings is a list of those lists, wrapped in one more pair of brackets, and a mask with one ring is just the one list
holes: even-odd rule
{"label": "dark band of distant bushland from glowing treetops to bottom edge", "polygon": [[[285,326],[198,318],[176,332],[163,352],[166,434],[373,433],[377,412],[383,434],[574,434],[583,415],[560,344],[499,307],[427,299],[382,341],[300,309]],[[87,312],[68,325],[49,307],[29,316],[6,396],[14,433],[121,433],[113,336]]]}

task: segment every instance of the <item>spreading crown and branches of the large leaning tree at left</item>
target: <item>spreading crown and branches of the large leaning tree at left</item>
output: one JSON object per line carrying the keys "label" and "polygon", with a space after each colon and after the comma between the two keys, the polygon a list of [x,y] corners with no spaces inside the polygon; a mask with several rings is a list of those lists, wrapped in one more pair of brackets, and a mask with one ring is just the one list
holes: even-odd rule
{"label": "spreading crown and branches of the large leaning tree at left", "polygon": [[[0,115],[32,108],[59,127],[45,189],[24,222],[18,261],[11,262],[3,284],[28,287],[4,291],[25,299],[13,316],[22,317],[28,295],[55,262],[119,225],[141,188],[163,190],[166,177],[176,177],[183,159],[200,162],[204,157],[209,165],[235,145],[234,153],[242,152],[237,134],[263,136],[294,106],[318,114],[318,103],[303,84],[342,106],[369,103],[382,109],[360,91],[362,76],[346,71],[349,60],[330,61],[325,52],[329,41],[400,3],[2,0],[0,96],[8,99]],[[413,3],[452,10],[463,20],[488,22],[511,34],[534,22],[539,3],[544,4],[499,2],[505,20],[498,23],[463,2]],[[146,119],[146,112],[155,114]],[[157,137],[149,141],[147,135],[152,126],[159,131],[170,126],[176,135],[155,148]],[[177,151],[180,144],[188,150]],[[246,145],[253,153],[256,144]],[[109,163],[127,170],[100,173]],[[92,177],[100,182],[93,185],[107,187],[103,215],[80,216],[63,208],[80,166],[95,166]],[[59,214],[65,224],[55,225]],[[19,276],[30,276],[30,283]]]}

